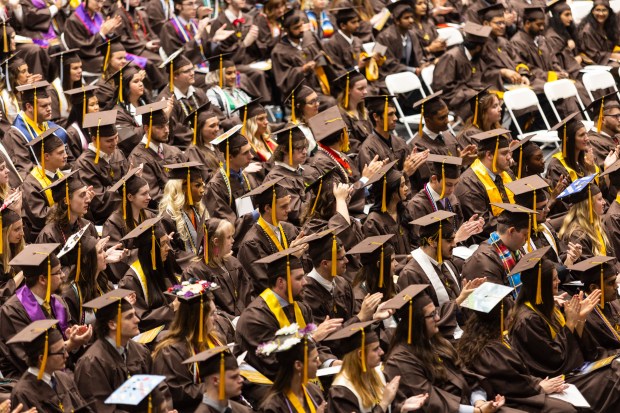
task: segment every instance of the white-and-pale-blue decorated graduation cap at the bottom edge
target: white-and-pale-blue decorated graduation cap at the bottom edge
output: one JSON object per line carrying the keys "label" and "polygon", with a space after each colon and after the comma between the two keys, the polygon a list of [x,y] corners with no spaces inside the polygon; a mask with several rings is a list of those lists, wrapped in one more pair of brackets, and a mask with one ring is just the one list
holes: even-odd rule
{"label": "white-and-pale-blue decorated graduation cap at the bottom edge", "polygon": [[[125,383],[105,399],[105,404],[115,404],[118,406],[141,406],[146,399],[147,412],[159,411],[153,408],[153,391],[159,384],[166,379],[166,376],[156,376],[153,374],[136,374],[131,376]],[[127,409],[123,409],[127,410]]]}

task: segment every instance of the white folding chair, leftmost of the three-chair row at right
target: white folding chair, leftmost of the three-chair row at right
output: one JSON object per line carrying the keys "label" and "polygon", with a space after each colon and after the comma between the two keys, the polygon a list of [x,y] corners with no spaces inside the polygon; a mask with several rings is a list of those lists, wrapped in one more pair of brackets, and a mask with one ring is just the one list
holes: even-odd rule
{"label": "white folding chair, leftmost of the three-chair row at right", "polygon": [[[536,97],[536,93],[534,93],[533,90],[527,87],[523,87],[506,91],[504,92],[504,104],[506,105],[506,109],[510,114],[510,118],[512,119],[515,127],[517,128],[517,132],[519,132],[519,139],[523,139],[525,136],[523,131],[521,130],[519,122],[517,122],[514,111],[536,107],[538,109],[540,117],[545,123],[545,127],[547,128],[547,130],[532,131],[528,132],[527,135],[530,135],[532,133],[536,134],[536,136],[534,136],[531,141],[540,143],[541,149],[544,149],[548,146],[555,147],[555,149],[560,148],[560,139],[558,138],[558,133],[556,131],[549,131],[549,129],[551,129],[551,127],[549,126],[549,121],[547,121],[547,117],[545,116],[545,113],[540,107],[538,97]],[[547,155],[545,160],[547,160],[550,156],[551,154]]]}

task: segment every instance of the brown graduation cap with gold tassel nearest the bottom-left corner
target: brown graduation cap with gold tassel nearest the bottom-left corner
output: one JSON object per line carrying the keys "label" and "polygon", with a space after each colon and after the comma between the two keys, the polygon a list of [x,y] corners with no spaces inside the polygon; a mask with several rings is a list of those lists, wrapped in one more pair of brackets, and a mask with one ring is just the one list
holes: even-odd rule
{"label": "brown graduation cap with gold tassel nearest the bottom-left corner", "polygon": [[7,344],[28,344],[24,348],[26,353],[30,355],[38,356],[43,353],[37,380],[41,380],[45,373],[50,345],[63,340],[62,334],[56,329],[56,324],[58,324],[58,320],[54,319],[33,321],[7,341]]}

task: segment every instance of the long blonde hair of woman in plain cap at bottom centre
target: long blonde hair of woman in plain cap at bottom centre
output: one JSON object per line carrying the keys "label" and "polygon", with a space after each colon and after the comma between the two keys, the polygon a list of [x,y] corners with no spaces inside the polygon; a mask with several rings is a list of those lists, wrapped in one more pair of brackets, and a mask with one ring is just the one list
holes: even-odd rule
{"label": "long blonde hair of woman in plain cap at bottom centre", "polygon": [[336,375],[344,375],[362,399],[362,407],[370,408],[379,403],[383,397],[385,384],[381,381],[376,369],[367,369],[366,373],[362,370],[362,360],[360,352],[351,351],[342,358],[342,368]]}

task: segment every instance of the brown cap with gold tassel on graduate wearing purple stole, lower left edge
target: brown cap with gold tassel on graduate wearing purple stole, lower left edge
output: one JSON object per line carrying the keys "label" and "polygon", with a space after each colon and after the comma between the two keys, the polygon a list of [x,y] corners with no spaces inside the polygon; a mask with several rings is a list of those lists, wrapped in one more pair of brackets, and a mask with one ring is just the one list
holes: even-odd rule
{"label": "brown cap with gold tassel on graduate wearing purple stole, lower left edge", "polygon": [[30,244],[17,254],[9,265],[17,266],[24,272],[24,277],[33,278],[47,275],[47,291],[45,292],[44,305],[49,305],[52,295],[52,268],[60,265],[58,257],[54,254],[60,244]]}

